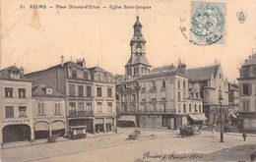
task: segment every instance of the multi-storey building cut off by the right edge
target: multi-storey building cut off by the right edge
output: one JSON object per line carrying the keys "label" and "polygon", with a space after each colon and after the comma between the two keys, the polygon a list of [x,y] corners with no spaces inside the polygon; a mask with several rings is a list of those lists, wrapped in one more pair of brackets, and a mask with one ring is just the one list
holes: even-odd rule
{"label": "multi-storey building cut off by the right edge", "polygon": [[240,68],[240,129],[256,132],[256,54],[253,54]]}

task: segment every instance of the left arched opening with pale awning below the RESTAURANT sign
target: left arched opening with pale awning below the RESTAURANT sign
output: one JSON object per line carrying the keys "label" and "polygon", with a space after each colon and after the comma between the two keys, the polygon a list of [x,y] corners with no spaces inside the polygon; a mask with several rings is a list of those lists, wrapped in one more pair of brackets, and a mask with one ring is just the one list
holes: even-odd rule
{"label": "left arched opening with pale awning below the RESTAURANT sign", "polygon": [[49,124],[47,122],[36,122],[33,128],[35,139],[47,138],[49,136]]}

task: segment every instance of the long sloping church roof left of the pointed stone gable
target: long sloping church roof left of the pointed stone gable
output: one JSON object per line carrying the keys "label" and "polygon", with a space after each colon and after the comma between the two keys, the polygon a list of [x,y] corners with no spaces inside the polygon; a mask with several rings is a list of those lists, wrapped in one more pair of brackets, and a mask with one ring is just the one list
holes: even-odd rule
{"label": "long sloping church roof left of the pointed stone gable", "polygon": [[216,76],[217,70],[220,67],[219,65],[209,66],[209,67],[200,67],[187,70],[188,79],[191,81],[209,81],[211,76]]}

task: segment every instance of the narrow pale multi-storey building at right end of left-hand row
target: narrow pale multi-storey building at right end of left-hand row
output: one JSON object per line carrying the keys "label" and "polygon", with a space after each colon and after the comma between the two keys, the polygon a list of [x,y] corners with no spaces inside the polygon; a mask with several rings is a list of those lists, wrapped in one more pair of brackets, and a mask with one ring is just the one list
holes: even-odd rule
{"label": "narrow pale multi-storey building at right end of left-hand row", "polygon": [[115,131],[116,106],[113,75],[102,68],[89,69],[93,81],[93,105],[96,132]]}

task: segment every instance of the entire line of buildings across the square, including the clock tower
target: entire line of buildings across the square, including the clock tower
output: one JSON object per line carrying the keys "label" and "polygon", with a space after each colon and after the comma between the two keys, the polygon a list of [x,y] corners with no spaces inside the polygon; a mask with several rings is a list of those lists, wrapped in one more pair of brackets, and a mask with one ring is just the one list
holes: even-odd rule
{"label": "entire line of buildings across the square, including the clock tower", "polygon": [[229,117],[255,130],[256,55],[240,69],[239,85],[227,82],[218,63],[153,68],[139,17],[133,27],[125,75],[87,68],[85,59],[64,62],[63,56],[60,64],[31,74],[15,66],[1,70],[1,143],[69,135],[74,127],[92,134],[114,131],[116,124],[172,130]]}

